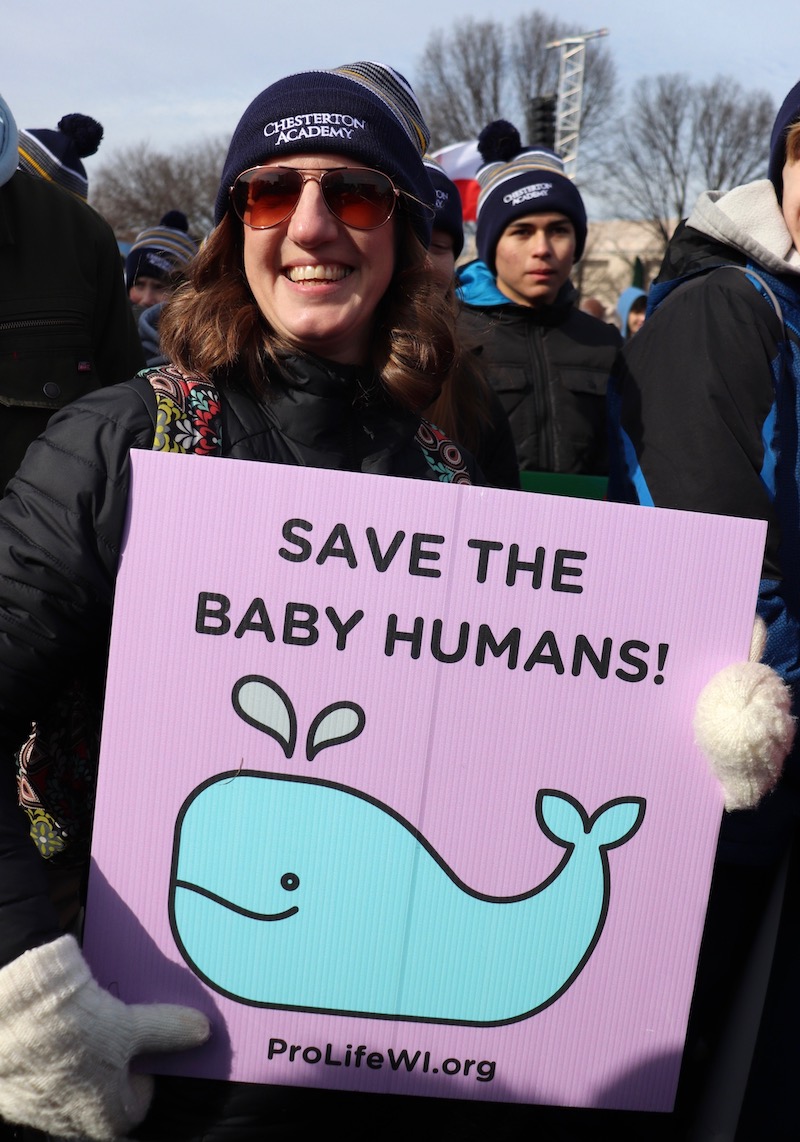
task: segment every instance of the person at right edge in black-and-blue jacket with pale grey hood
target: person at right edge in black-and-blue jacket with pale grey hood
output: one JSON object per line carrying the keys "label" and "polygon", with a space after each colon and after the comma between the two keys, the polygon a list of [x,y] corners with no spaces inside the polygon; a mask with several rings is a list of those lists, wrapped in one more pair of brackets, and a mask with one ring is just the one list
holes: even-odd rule
{"label": "person at right edge in black-and-blue jacket with pale grey hood", "polygon": [[[758,612],[763,661],[800,687],[800,83],[771,134],[769,178],[700,195],[679,225],[649,290],[647,320],[621,356],[609,497],[647,506],[749,516],[768,523]],[[744,271],[744,272],[743,272]],[[619,460],[619,463],[617,463]],[[793,701],[798,711],[797,697]],[[732,754],[737,742],[732,742]],[[700,1059],[743,1036],[724,1022],[749,995],[742,965],[765,902],[798,831],[800,750],[757,810],[726,814],[689,1023],[679,1110],[687,1136],[702,1087]],[[797,843],[795,843],[797,855]],[[789,878],[785,915],[797,916]],[[790,941],[793,941],[791,943]],[[794,1077],[797,926],[782,928],[740,1132],[778,1139],[797,1129]],[[791,975],[781,976],[784,964]],[[740,1008],[741,1010],[741,1008]],[[740,1040],[743,1054],[752,1038]],[[721,1049],[721,1048],[720,1048]],[[741,1105],[746,1070],[722,1076],[721,1097]],[[719,1080],[720,1076],[717,1075]],[[719,1087],[717,1087],[719,1088]],[[716,1108],[719,1110],[719,1105]],[[735,1116],[734,1116],[735,1118]],[[789,1125],[791,1123],[791,1125]],[[705,1121],[709,1132],[711,1125]],[[714,1124],[717,1125],[717,1124]]]}

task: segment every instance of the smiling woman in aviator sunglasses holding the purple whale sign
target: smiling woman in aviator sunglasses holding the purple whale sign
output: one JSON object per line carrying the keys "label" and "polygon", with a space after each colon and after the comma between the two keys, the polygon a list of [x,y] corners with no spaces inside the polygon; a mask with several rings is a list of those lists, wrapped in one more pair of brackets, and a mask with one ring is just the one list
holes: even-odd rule
{"label": "smiling woman in aviator sunglasses holding the purple whale sign", "polygon": [[[201,1045],[208,1020],[186,1007],[127,1005],[99,988],[64,934],[55,877],[45,874],[54,861],[74,875],[87,863],[88,726],[73,732],[74,758],[45,730],[58,729],[62,710],[74,714],[78,693],[64,697],[75,678],[88,711],[99,709],[87,693],[102,690],[131,449],[471,481],[472,461],[419,415],[458,363],[452,316],[426,260],[427,144],[413,93],[389,67],[353,64],[267,88],[233,135],[216,228],[164,311],[172,364],[56,416],[0,505],[9,758],[38,719],[18,762],[30,822],[10,761],[0,797],[7,1121],[67,1137],[172,1142],[308,1139],[332,1123],[351,1139],[518,1132],[510,1109],[488,1103],[179,1078],[160,1078],[153,1097],[131,1059]],[[54,700],[48,723],[42,707]],[[31,823],[48,861],[31,844]]]}

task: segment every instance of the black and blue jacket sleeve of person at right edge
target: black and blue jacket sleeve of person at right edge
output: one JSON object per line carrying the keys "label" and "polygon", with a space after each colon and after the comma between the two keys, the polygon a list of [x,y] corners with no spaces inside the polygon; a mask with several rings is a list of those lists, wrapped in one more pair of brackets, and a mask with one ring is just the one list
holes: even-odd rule
{"label": "black and blue jacket sleeve of person at right edge", "polygon": [[[797,476],[785,473],[783,490],[776,477],[776,392],[795,386],[781,379],[782,337],[771,304],[742,273],[714,271],[678,287],[622,354],[609,498],[767,521],[762,660],[792,687],[797,710],[800,628],[789,602],[797,562],[786,542],[797,532]],[[793,436],[793,395],[789,403],[792,423],[783,431]]]}

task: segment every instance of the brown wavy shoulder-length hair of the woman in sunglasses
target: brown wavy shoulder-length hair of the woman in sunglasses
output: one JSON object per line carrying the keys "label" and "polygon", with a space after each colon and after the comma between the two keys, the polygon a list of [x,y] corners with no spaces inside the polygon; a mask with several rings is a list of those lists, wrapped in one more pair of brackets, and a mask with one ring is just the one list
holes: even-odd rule
{"label": "brown wavy shoulder-length hair of the woman in sunglasses", "polygon": [[[458,368],[452,306],[433,286],[427,251],[409,216],[396,215],[396,262],[374,316],[372,365],[397,404],[427,408]],[[259,399],[269,395],[269,364],[298,353],[264,317],[243,265],[243,234],[228,211],[167,301],[160,323],[162,352],[186,372],[224,385],[235,373]]]}

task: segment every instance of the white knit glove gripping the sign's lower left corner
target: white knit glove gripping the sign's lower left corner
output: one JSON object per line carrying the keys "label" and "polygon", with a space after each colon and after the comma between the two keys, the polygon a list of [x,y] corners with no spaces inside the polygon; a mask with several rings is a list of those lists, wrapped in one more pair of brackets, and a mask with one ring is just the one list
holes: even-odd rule
{"label": "white knit glove gripping the sign's lower left corner", "polygon": [[205,1015],[169,1004],[127,1005],[91,976],[71,935],[0,970],[0,1116],[59,1137],[119,1139],[146,1115],[146,1051],[200,1046]]}

